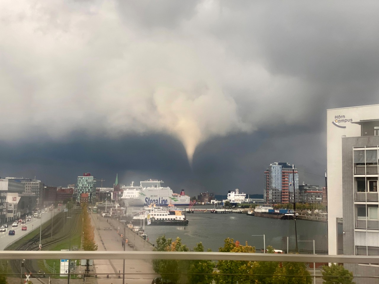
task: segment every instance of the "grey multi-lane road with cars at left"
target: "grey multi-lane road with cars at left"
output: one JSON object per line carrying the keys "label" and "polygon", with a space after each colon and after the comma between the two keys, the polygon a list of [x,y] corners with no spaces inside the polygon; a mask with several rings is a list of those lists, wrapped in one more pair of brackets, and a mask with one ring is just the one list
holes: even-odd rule
{"label": "grey multi-lane road with cars at left", "polygon": [[[62,209],[60,209],[60,210],[62,210]],[[41,219],[39,219],[37,217],[31,217],[30,222],[26,222],[25,224],[19,224],[17,227],[12,227],[12,223],[9,223],[6,231],[0,232],[0,250],[4,250],[4,248],[9,243],[13,242],[13,240],[18,239],[19,237],[26,235],[32,229],[39,228],[39,226],[41,225],[41,222],[44,223],[44,222],[50,220],[51,217],[54,217],[55,214],[57,214],[57,212],[60,212],[60,211],[58,211],[58,208],[55,208],[53,211],[43,213]],[[23,218],[22,220],[25,220],[25,218]],[[21,230],[22,226],[27,226],[28,229],[26,231],[22,231]],[[8,235],[9,230],[15,230],[16,234],[15,235]]]}

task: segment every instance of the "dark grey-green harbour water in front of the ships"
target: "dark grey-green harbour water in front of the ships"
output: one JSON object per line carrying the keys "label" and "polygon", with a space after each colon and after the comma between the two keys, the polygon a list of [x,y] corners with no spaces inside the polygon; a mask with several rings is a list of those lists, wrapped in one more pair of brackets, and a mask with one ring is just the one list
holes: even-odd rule
{"label": "dark grey-green harbour water in front of the ships", "polygon": [[[182,239],[182,243],[188,248],[193,248],[196,243],[202,242],[205,250],[210,248],[218,251],[227,237],[238,240],[241,244],[246,241],[257,249],[263,248],[263,235],[266,236],[266,246],[274,249],[287,250],[287,237],[289,248],[295,248],[294,221],[277,220],[264,217],[247,216],[246,214],[212,214],[194,213],[187,214],[188,226],[147,226],[145,232],[149,241],[156,243],[157,237],[165,235],[166,238],[176,237]],[[298,241],[315,240],[316,253],[327,251],[327,226],[323,222],[296,220]],[[309,250],[313,253],[312,242],[298,242],[300,250]]]}

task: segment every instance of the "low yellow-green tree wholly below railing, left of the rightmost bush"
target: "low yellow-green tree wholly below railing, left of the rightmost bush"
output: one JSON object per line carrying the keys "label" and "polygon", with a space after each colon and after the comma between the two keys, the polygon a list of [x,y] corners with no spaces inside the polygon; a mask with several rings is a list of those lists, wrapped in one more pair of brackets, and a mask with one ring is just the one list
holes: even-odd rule
{"label": "low yellow-green tree wholly below railing, left of the rightmost bush", "polygon": [[283,262],[276,269],[272,284],[311,284],[312,277],[303,262]]}

